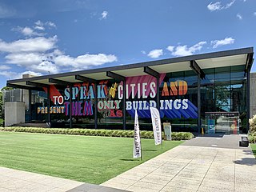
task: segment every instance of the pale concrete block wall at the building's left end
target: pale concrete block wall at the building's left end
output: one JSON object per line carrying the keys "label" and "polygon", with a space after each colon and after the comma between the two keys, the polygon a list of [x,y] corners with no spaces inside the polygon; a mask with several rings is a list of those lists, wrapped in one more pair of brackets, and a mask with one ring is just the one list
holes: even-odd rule
{"label": "pale concrete block wall at the building's left end", "polygon": [[5,102],[5,126],[25,122],[25,102]]}

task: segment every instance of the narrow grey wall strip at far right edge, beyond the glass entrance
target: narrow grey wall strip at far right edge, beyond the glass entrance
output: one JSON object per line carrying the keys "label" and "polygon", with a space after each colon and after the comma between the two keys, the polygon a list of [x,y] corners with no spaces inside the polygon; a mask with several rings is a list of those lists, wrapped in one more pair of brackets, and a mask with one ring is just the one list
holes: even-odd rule
{"label": "narrow grey wall strip at far right edge, beyond the glass entrance", "polygon": [[256,114],[256,73],[250,74],[250,117]]}

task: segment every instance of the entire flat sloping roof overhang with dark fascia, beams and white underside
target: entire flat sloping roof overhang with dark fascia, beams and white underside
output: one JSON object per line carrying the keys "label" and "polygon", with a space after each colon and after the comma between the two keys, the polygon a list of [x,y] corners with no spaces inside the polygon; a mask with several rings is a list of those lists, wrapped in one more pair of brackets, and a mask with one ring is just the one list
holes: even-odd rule
{"label": "entire flat sloping roof overhang with dark fascia, beams and white underside", "polygon": [[[16,88],[38,90],[43,86],[67,85],[76,82],[88,82],[112,79],[107,71],[120,75],[120,77],[133,77],[146,75],[145,67],[149,67],[158,74],[194,70],[196,73],[203,73],[203,70],[223,66],[245,66],[245,73],[250,72],[254,62],[254,48],[242,48],[238,50],[225,50],[209,54],[196,54],[180,58],[168,58],[153,62],[140,62],[136,64],[105,67],[93,70],[80,70],[62,74],[49,74],[33,78],[20,78],[7,81],[6,86]],[[195,63],[196,67],[191,66]],[[52,80],[53,79],[53,80]],[[52,81],[51,81],[52,80]],[[56,80],[56,81],[54,81]]]}

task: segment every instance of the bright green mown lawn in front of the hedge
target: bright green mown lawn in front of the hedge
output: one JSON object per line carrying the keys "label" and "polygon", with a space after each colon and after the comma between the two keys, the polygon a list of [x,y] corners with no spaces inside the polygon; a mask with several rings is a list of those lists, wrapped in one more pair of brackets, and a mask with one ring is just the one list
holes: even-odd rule
{"label": "bright green mown lawn in front of the hedge", "polygon": [[142,161],[133,157],[133,138],[0,132],[0,166],[99,184],[178,146],[142,139]]}

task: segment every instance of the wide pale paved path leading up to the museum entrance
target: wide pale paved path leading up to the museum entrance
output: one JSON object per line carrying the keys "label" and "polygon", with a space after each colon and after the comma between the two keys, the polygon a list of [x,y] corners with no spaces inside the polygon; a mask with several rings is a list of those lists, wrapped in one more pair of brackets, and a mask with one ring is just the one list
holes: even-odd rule
{"label": "wide pale paved path leading up to the museum entrance", "polygon": [[102,186],[138,192],[254,192],[256,160],[250,147],[238,146],[239,138],[194,138]]}

